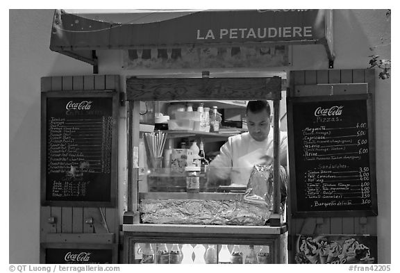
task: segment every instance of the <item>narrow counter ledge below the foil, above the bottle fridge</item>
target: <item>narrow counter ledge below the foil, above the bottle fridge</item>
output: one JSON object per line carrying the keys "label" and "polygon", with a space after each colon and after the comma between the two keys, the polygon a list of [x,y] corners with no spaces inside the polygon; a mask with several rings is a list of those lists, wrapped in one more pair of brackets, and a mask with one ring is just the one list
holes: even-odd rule
{"label": "narrow counter ledge below the foil, above the bottle fridge", "polygon": [[124,224],[122,231],[144,233],[218,233],[218,234],[271,234],[287,231],[287,226],[235,226],[198,224]]}

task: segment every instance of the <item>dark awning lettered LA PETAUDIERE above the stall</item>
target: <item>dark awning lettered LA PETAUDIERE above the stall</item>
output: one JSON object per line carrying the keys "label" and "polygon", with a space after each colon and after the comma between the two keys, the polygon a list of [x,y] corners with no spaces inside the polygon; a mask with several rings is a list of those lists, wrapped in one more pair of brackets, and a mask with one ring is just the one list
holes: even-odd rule
{"label": "dark awning lettered LA PETAUDIERE above the stall", "polygon": [[97,65],[98,49],[323,44],[333,67],[332,10],[56,10],[50,49]]}

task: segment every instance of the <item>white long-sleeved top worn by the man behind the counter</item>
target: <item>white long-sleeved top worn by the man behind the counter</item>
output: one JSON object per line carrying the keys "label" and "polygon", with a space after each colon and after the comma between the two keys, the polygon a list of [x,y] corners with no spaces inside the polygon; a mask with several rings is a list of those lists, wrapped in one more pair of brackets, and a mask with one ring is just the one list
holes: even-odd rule
{"label": "white long-sleeved top worn by the man behind the counter", "polygon": [[[279,160],[286,166],[288,133],[281,131],[280,135]],[[265,156],[271,157],[270,163],[274,159],[274,130],[271,128],[263,141],[254,140],[249,132],[231,136],[219,152],[210,163],[210,171],[219,179],[231,178],[231,185],[247,185],[254,165],[265,163]]]}

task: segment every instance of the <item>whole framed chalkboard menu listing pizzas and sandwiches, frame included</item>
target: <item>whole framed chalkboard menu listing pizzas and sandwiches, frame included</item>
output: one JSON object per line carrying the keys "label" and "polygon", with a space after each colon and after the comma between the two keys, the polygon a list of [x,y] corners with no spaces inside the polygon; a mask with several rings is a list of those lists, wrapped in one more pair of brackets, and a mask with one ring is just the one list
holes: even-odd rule
{"label": "whole framed chalkboard menu listing pizzas and sandwiches, frame included", "polygon": [[293,215],[376,215],[369,94],[288,98]]}

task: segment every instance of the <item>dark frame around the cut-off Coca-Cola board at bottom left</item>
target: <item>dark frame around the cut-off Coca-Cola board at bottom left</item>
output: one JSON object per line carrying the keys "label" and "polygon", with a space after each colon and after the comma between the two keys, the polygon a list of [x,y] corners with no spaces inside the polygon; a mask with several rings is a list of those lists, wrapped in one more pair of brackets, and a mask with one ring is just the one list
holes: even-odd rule
{"label": "dark frame around the cut-off Coca-Cola board at bottom left", "polygon": [[47,263],[47,249],[110,249],[112,251],[111,263],[118,263],[118,244],[42,243],[40,244],[40,263],[42,264]]}

